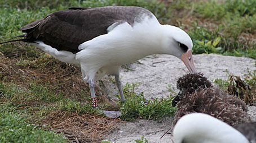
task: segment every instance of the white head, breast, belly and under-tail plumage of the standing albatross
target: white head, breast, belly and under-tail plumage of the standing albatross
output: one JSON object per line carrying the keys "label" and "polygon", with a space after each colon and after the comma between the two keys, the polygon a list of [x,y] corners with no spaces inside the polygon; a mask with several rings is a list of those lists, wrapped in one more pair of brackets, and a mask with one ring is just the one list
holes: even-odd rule
{"label": "white head, breast, belly and under-tail plumage of the standing albatross", "polygon": [[[112,24],[116,25],[116,24]],[[111,26],[109,26],[111,27]],[[145,17],[133,26],[123,22],[111,29],[108,34],[97,36],[79,45],[80,52],[73,54],[57,50],[42,41],[32,43],[61,62],[80,64],[83,80],[100,79],[105,74],[116,75],[122,64],[131,63],[151,54],[173,54],[181,57],[182,52],[175,47],[175,39],[186,38],[191,50],[192,41],[183,30],[175,26],[161,25],[155,16]],[[96,74],[97,73],[97,74]]]}

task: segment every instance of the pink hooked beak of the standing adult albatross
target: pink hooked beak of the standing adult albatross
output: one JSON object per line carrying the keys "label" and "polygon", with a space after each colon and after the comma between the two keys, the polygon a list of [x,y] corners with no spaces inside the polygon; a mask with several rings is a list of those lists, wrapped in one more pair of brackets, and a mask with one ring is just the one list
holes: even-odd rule
{"label": "pink hooked beak of the standing adult albatross", "polygon": [[197,72],[191,50],[188,50],[186,53],[182,54],[182,61],[188,68],[189,72]]}

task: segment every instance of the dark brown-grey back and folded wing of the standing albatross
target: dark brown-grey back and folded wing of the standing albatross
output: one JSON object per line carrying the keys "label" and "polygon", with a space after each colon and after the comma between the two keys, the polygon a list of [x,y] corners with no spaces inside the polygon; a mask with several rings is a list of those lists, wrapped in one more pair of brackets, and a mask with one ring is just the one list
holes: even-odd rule
{"label": "dark brown-grey back and folded wing of the standing albatross", "polygon": [[21,30],[27,33],[27,38],[23,41],[41,40],[58,50],[77,53],[78,45],[107,34],[107,28],[113,23],[126,21],[133,25],[142,13],[152,16],[151,12],[141,7],[109,6],[58,11],[24,26]]}

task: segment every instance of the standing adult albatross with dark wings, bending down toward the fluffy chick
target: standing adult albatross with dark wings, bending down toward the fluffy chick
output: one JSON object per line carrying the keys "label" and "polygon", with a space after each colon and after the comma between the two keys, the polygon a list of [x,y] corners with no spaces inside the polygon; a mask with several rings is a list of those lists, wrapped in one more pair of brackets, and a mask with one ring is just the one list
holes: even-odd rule
{"label": "standing adult albatross with dark wings, bending down toward the fluffy chick", "polygon": [[171,54],[182,59],[190,72],[196,72],[188,34],[178,27],[161,25],[142,7],[73,7],[51,13],[21,30],[26,34],[17,38],[23,39],[11,41],[28,42],[62,62],[80,64],[93,107],[97,107],[95,80],[105,74],[115,76],[121,101],[125,102],[120,66],[145,56]]}

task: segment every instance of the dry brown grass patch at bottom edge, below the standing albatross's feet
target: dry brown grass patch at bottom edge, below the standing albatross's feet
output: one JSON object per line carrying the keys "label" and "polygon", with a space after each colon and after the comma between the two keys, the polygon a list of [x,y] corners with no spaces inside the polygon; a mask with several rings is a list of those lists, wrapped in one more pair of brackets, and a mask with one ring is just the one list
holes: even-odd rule
{"label": "dry brown grass patch at bottom edge, below the standing albatross's feet", "polygon": [[63,133],[70,142],[100,142],[117,129],[120,119],[92,116],[90,114],[78,115],[76,113],[54,112],[43,123],[51,130]]}

